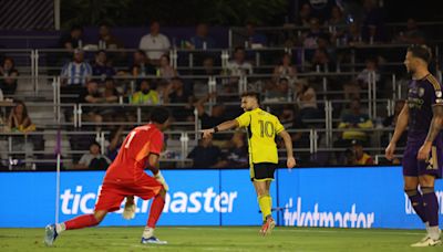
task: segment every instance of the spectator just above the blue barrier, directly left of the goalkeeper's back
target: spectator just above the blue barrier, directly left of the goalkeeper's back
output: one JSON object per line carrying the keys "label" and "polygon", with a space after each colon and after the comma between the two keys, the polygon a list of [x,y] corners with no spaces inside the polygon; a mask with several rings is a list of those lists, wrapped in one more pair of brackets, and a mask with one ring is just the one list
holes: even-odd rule
{"label": "spectator just above the blue barrier, directly left of the goalkeeper's back", "polygon": [[105,170],[111,165],[111,160],[101,154],[102,147],[99,143],[93,141],[90,145],[90,151],[83,154],[79,164],[74,165],[74,169]]}

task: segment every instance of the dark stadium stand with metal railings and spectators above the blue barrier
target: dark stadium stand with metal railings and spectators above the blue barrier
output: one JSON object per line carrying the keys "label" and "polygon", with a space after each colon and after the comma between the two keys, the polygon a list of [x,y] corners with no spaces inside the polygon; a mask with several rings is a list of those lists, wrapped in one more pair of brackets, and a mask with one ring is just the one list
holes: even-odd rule
{"label": "dark stadium stand with metal railings and spectators above the blue barrier", "polygon": [[[213,31],[200,23],[195,34],[189,29],[186,35],[162,28],[168,49],[142,43],[145,31],[127,42],[119,38],[127,31],[113,29],[110,39],[106,24],[100,33],[74,27],[60,39],[54,33],[27,34],[27,45],[20,42],[17,48],[11,46],[13,38],[0,35],[7,46],[0,50],[0,167],[53,169],[61,154],[62,168],[74,169],[93,141],[101,155],[113,159],[122,137],[146,123],[157,104],[174,115],[162,165],[188,167],[189,153],[202,145],[198,130],[239,115],[239,94],[250,90],[261,93],[262,106],[279,115],[292,134],[299,164],[343,164],[353,140],[362,140],[374,164],[388,164],[383,150],[406,91],[405,49],[410,43],[431,45],[441,81],[442,38],[436,31],[443,23],[382,23],[377,15],[359,23],[337,8],[331,11],[326,22],[301,14],[296,25]],[[151,29],[158,33],[155,25]],[[87,38],[94,32],[100,41]],[[41,46],[51,44],[48,41],[56,48]],[[24,102],[33,130],[11,125],[17,101]],[[357,138],[344,122],[359,119],[349,114],[356,111],[368,120],[364,127],[351,123],[358,127]],[[223,157],[228,149],[243,153],[235,139],[245,136],[233,134],[220,134],[210,144]],[[247,165],[230,158],[218,164]]]}

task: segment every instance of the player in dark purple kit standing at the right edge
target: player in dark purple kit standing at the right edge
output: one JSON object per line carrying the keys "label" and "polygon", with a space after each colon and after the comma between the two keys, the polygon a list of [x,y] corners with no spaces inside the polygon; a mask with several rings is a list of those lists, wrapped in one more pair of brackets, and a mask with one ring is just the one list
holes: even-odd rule
{"label": "player in dark purple kit standing at the right edge", "polygon": [[409,127],[402,161],[404,191],[427,231],[421,241],[411,246],[442,244],[434,182],[442,177],[443,138],[440,130],[443,124],[443,94],[442,85],[427,70],[431,57],[431,50],[425,45],[408,48],[404,65],[412,74],[408,102],[399,115],[391,143],[385,149],[385,157],[392,160],[395,144]]}

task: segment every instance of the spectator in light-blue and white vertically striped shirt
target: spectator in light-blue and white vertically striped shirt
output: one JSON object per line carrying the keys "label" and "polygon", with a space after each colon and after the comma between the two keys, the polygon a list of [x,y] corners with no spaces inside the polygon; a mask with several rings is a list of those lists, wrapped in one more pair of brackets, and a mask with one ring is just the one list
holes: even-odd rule
{"label": "spectator in light-blue and white vertically striped shirt", "polygon": [[61,72],[63,84],[69,86],[84,86],[91,78],[92,67],[84,62],[83,50],[74,50],[73,61],[66,63]]}

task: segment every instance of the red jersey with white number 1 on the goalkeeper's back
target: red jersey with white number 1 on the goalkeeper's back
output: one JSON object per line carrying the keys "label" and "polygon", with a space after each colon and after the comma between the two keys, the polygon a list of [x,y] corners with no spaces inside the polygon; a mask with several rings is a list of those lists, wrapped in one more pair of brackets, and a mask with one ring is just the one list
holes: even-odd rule
{"label": "red jersey with white number 1 on the goalkeeper's back", "polygon": [[134,128],[107,168],[104,181],[132,182],[140,179],[145,174],[148,155],[159,155],[162,148],[163,133],[154,124]]}

